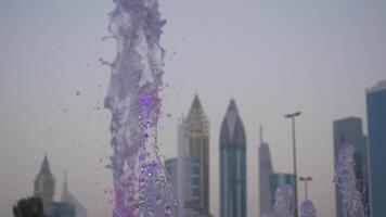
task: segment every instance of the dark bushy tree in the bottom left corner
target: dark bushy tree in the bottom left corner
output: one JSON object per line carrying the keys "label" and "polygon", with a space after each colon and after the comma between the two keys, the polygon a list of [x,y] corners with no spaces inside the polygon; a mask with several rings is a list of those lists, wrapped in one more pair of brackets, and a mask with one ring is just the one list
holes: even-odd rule
{"label": "dark bushy tree in the bottom left corner", "polygon": [[14,217],[46,217],[40,197],[27,197],[17,201],[13,206]]}

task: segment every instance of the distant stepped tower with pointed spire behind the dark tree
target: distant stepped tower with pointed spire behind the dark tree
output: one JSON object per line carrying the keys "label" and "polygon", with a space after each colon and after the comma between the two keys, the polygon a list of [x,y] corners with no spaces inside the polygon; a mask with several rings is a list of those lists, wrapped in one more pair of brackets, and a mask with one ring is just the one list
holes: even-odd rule
{"label": "distant stepped tower with pointed spire behind the dark tree", "polygon": [[34,195],[41,199],[43,202],[43,208],[47,210],[50,203],[53,202],[53,195],[55,193],[55,179],[50,170],[50,164],[47,155],[41,163],[40,171],[35,179]]}

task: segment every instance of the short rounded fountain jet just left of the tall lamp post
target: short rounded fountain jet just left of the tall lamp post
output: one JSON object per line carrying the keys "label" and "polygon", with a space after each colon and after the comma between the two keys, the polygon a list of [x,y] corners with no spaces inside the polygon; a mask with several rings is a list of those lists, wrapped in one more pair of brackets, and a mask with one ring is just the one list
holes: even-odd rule
{"label": "short rounded fountain jet just left of the tall lamp post", "polygon": [[274,194],[273,217],[293,217],[294,192],[290,184],[278,188]]}

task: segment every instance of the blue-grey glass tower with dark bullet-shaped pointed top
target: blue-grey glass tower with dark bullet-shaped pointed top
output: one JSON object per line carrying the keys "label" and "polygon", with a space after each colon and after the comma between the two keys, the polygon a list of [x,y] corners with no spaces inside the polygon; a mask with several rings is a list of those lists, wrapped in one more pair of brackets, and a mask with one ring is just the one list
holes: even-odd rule
{"label": "blue-grey glass tower with dark bullet-shaped pointed top", "polygon": [[234,100],[220,131],[220,216],[246,217],[246,139]]}

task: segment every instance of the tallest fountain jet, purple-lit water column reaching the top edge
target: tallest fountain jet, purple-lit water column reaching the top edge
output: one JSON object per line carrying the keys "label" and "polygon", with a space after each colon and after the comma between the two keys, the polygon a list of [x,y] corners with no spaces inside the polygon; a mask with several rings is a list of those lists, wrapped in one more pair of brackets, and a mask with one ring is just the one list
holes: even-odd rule
{"label": "tallest fountain jet, purple-lit water column reaching the top edge", "polygon": [[112,113],[107,166],[114,179],[114,217],[172,216],[177,201],[157,146],[162,100],[162,27],[157,0],[113,0],[108,30],[117,44],[104,106]]}

